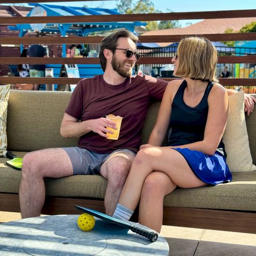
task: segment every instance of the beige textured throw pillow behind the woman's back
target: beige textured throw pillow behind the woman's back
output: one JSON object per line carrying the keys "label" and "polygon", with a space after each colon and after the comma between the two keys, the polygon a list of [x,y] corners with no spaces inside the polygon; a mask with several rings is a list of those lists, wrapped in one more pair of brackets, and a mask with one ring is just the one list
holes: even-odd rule
{"label": "beige textured throw pillow behind the woman's back", "polygon": [[244,114],[244,93],[239,92],[229,99],[229,114],[223,134],[227,153],[227,165],[231,173],[256,170],[252,164],[248,134]]}

